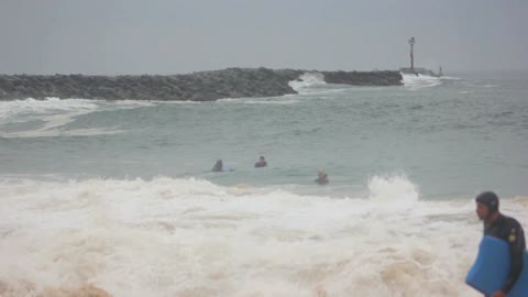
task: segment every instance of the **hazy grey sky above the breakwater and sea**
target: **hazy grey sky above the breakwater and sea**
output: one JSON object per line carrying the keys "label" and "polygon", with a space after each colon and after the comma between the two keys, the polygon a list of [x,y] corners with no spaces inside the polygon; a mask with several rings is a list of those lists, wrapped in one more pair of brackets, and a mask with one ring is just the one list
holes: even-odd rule
{"label": "hazy grey sky above the breakwater and sea", "polygon": [[527,69],[526,0],[0,0],[0,74]]}

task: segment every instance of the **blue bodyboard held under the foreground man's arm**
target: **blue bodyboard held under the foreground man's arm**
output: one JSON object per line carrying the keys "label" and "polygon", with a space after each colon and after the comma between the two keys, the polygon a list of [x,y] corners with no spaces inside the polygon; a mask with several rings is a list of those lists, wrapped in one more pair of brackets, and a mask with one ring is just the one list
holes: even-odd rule
{"label": "blue bodyboard held under the foreground man's arm", "polygon": [[[475,263],[471,267],[465,283],[483,293],[492,296],[506,283],[509,273],[509,246],[508,243],[492,237],[484,237],[479,248]],[[524,254],[522,273],[508,293],[508,297],[528,296],[528,252]]]}

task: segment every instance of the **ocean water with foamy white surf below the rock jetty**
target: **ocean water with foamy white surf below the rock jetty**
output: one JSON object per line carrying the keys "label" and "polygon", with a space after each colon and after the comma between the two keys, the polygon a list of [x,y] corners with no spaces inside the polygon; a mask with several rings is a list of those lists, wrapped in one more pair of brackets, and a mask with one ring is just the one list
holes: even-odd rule
{"label": "ocean water with foamy white surf below the rock jetty", "polygon": [[480,296],[474,196],[528,229],[528,75],[304,78],[273,98],[0,102],[0,296]]}

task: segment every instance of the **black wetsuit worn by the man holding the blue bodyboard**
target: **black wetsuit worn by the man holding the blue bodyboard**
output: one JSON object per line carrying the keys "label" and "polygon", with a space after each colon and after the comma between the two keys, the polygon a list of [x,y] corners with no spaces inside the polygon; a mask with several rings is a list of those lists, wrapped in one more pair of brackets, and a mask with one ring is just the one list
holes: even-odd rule
{"label": "black wetsuit worn by the man holding the blue bodyboard", "polygon": [[508,279],[501,289],[508,294],[522,272],[522,253],[526,249],[525,233],[522,228],[514,218],[509,218],[499,213],[498,218],[492,223],[484,222],[484,235],[502,239],[509,244],[512,265],[509,268]]}

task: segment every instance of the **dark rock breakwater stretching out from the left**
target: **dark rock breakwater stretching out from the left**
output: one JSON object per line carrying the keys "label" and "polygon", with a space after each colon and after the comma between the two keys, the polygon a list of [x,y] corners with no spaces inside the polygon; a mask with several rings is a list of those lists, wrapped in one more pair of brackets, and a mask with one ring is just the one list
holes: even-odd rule
{"label": "dark rock breakwater stretching out from the left", "polygon": [[[228,68],[186,75],[0,75],[0,100],[48,97],[103,100],[193,100],[296,94],[288,82],[307,70]],[[402,85],[399,72],[319,72],[329,84]]]}

